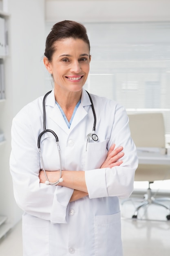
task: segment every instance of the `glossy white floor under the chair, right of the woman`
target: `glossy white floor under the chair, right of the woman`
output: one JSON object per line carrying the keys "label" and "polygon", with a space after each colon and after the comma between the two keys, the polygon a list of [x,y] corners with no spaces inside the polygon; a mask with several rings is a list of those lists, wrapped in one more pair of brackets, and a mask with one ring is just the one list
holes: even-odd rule
{"label": "glossy white floor under the chair, right of the woman", "polygon": [[[170,256],[169,212],[160,206],[149,205],[139,210],[138,219],[132,215],[140,202],[121,205],[122,241],[124,256]],[[166,202],[169,206],[170,202]]]}

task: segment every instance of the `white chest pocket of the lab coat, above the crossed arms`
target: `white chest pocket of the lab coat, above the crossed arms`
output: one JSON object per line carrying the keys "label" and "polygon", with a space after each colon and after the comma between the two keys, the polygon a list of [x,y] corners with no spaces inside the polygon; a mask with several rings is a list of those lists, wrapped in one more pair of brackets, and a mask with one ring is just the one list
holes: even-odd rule
{"label": "white chest pocket of the lab coat, above the crossed arms", "polygon": [[108,150],[106,147],[107,140],[102,142],[87,143],[84,163],[85,171],[101,167],[107,157]]}

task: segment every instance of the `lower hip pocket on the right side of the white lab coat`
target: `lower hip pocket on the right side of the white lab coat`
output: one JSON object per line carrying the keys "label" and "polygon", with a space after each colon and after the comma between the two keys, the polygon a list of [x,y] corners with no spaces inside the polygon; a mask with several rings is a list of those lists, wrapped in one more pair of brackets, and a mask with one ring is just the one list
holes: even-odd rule
{"label": "lower hip pocket on the right side of the white lab coat", "polygon": [[95,216],[95,255],[122,256],[120,212]]}

